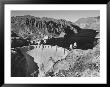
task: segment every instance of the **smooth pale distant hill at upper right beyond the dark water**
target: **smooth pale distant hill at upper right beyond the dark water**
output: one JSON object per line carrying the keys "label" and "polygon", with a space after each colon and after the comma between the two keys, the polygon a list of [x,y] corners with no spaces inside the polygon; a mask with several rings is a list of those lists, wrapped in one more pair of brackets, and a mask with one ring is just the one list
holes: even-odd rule
{"label": "smooth pale distant hill at upper right beyond the dark water", "polygon": [[100,16],[80,18],[75,22],[75,24],[84,29],[94,29],[100,31]]}

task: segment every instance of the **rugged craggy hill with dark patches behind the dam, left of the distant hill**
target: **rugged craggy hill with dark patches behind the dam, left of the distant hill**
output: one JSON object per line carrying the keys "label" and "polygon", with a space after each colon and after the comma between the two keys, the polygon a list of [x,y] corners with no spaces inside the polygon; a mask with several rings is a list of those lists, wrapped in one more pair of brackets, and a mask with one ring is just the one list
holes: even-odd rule
{"label": "rugged craggy hill with dark patches behind the dam, left of the distant hill", "polygon": [[80,28],[64,19],[34,17],[30,15],[11,17],[11,31],[22,38],[42,39],[45,35],[58,37],[60,34],[77,33]]}

